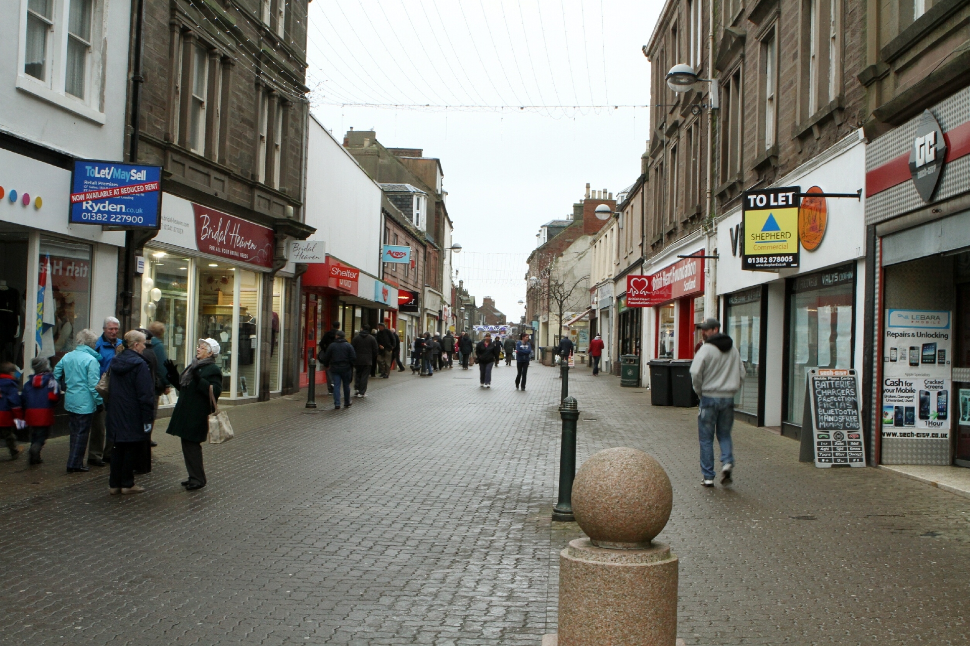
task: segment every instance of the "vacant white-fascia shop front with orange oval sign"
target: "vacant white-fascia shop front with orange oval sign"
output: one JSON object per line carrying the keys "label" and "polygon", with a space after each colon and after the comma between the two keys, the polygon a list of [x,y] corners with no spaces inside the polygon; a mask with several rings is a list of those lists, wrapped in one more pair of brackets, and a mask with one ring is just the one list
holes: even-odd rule
{"label": "vacant white-fascia shop front with orange oval sign", "polygon": [[[809,371],[861,366],[862,202],[798,197],[782,205],[789,214],[770,203],[773,191],[792,187],[798,193],[855,194],[864,156],[865,143],[854,134],[778,182],[788,188],[758,192],[768,205],[760,215],[750,214],[746,221],[739,209],[718,223],[722,331],[744,365],[744,383],[734,398],[736,418],[799,439]],[[779,240],[786,241],[786,248],[779,249]],[[760,244],[767,244],[775,258],[757,258]],[[771,263],[784,266],[745,269]]]}

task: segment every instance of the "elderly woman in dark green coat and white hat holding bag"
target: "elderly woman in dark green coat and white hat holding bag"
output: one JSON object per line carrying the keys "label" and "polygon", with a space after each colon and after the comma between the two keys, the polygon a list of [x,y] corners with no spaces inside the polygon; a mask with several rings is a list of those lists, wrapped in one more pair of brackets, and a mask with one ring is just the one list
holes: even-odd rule
{"label": "elderly woman in dark green coat and white hat holding bag", "polygon": [[178,390],[178,402],[169,420],[169,435],[181,438],[182,457],[188,479],[182,481],[186,491],[206,486],[206,471],[202,464],[202,443],[209,437],[209,415],[212,399],[218,400],[222,392],[222,370],[215,365],[219,354],[215,339],[199,339],[195,360],[181,375],[171,359],[165,362],[169,381]]}

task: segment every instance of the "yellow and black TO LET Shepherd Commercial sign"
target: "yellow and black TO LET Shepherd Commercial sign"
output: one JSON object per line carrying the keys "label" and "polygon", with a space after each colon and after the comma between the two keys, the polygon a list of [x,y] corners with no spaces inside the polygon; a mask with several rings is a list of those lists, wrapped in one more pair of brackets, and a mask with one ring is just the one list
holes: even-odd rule
{"label": "yellow and black TO LET Shepherd Commercial sign", "polygon": [[759,271],[798,266],[800,195],[799,186],[742,194],[742,269]]}

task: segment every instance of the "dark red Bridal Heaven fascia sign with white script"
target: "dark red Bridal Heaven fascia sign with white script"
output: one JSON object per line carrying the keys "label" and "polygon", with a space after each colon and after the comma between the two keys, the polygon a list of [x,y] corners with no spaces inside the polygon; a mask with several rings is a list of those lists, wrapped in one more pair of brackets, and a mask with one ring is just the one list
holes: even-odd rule
{"label": "dark red Bridal Heaven fascia sign with white script", "polygon": [[199,251],[231,261],[273,267],[272,229],[201,204],[192,204],[192,210],[195,211],[195,242]]}

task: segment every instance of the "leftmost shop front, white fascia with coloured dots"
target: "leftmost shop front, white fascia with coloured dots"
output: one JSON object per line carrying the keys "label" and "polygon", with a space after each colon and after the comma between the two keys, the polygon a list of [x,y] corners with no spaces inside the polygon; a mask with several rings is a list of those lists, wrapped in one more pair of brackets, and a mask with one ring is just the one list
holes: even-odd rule
{"label": "leftmost shop front, white fascia with coloured dots", "polygon": [[[85,327],[117,316],[123,231],[68,223],[71,171],[0,150],[0,361],[55,364]],[[55,433],[66,426],[57,416]]]}

